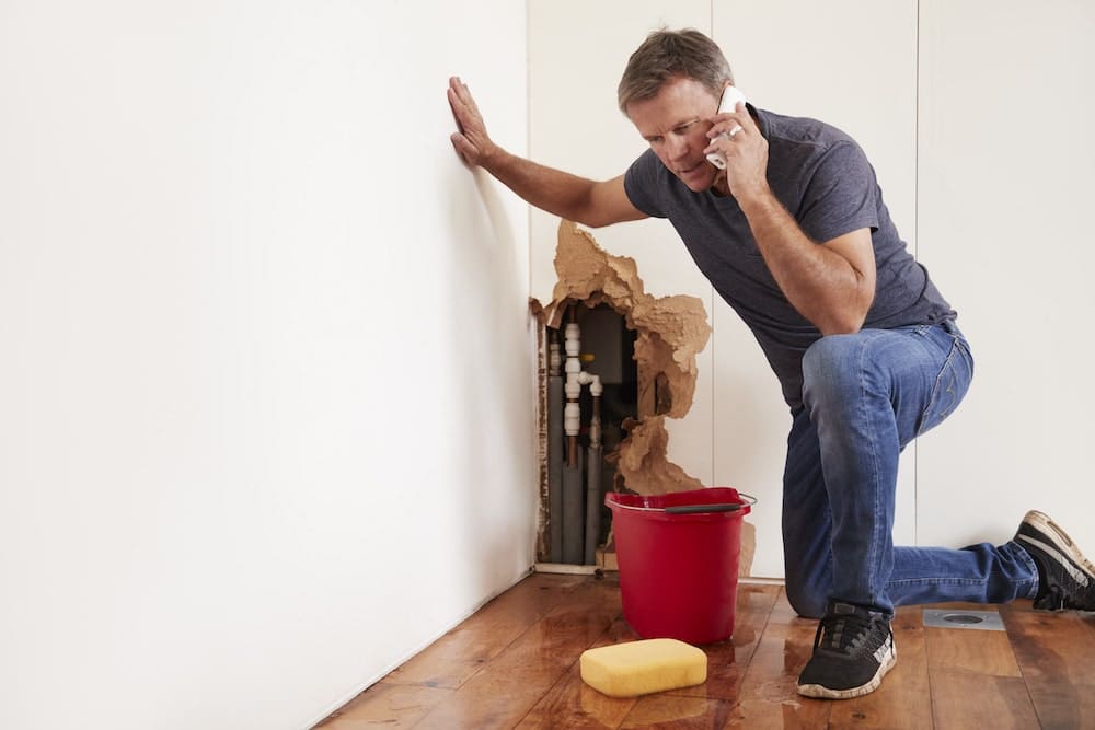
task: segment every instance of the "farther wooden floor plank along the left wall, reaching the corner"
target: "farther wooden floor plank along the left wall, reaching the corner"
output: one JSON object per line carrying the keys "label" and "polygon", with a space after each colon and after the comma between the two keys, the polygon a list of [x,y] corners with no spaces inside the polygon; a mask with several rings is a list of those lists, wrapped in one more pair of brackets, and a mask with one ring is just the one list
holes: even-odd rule
{"label": "farther wooden floor plank along the left wall, reaching the corner", "polygon": [[384,681],[457,688],[585,581],[585,576],[533,573],[484,605]]}

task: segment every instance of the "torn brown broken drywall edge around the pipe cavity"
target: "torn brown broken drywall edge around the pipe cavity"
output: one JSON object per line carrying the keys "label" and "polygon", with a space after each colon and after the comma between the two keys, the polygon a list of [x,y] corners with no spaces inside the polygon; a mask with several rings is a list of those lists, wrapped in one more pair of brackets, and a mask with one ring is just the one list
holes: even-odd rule
{"label": "torn brown broken drywall edge around the pipe cavity", "polygon": [[[706,347],[712,333],[703,300],[684,294],[648,294],[633,258],[608,253],[592,234],[566,220],[558,228],[555,273],[552,301],[545,306],[535,300],[530,302],[541,322],[557,329],[568,303],[580,301],[590,308],[604,303],[623,315],[627,328],[636,333],[639,417],[625,424],[627,438],[610,456],[616,461],[624,486],[642,495],[704,487],[669,461],[666,429],[667,417],[682,418],[692,407],[696,355]],[[541,366],[544,355],[541,349]],[[741,537],[739,565],[740,573],[746,576],[756,548],[752,525],[742,525]]]}

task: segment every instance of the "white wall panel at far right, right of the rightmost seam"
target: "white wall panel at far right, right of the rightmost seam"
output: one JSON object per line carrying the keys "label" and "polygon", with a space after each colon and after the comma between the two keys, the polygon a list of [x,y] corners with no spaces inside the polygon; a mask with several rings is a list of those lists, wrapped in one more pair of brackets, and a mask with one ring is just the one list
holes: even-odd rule
{"label": "white wall panel at far right, right of the rightmost seam", "polygon": [[921,2],[920,251],[977,374],[920,448],[922,542],[1042,509],[1095,553],[1095,5]]}

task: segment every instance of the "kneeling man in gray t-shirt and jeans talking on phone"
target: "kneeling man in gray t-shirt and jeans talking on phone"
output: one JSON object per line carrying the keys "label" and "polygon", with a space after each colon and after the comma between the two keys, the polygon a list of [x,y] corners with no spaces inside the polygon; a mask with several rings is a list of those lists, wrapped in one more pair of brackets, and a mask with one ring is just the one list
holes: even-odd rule
{"label": "kneeling man in gray t-shirt and jeans talking on phone", "polygon": [[[964,397],[968,344],[906,250],[858,146],[820,121],[751,104],[717,113],[733,83],[703,34],[650,34],[619,86],[620,108],[649,149],[607,182],[499,148],[456,78],[452,143],[563,218],[590,227],[668,218],[753,332],[792,413],[787,596],[820,618],[798,692],[846,698],[878,687],[896,659],[896,605],[1033,598],[1037,609],[1095,610],[1095,566],[1040,512],[1000,547],[894,546],[899,454]],[[725,170],[707,161],[715,152]]]}

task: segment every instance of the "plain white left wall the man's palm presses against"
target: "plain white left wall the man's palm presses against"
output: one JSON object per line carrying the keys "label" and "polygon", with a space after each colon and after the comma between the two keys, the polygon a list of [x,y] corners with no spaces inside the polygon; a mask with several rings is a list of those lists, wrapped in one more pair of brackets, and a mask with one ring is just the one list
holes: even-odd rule
{"label": "plain white left wall the man's palm presses against", "polygon": [[525,54],[506,0],[0,5],[0,727],[309,727],[528,569],[526,209],[445,99],[523,151]]}

